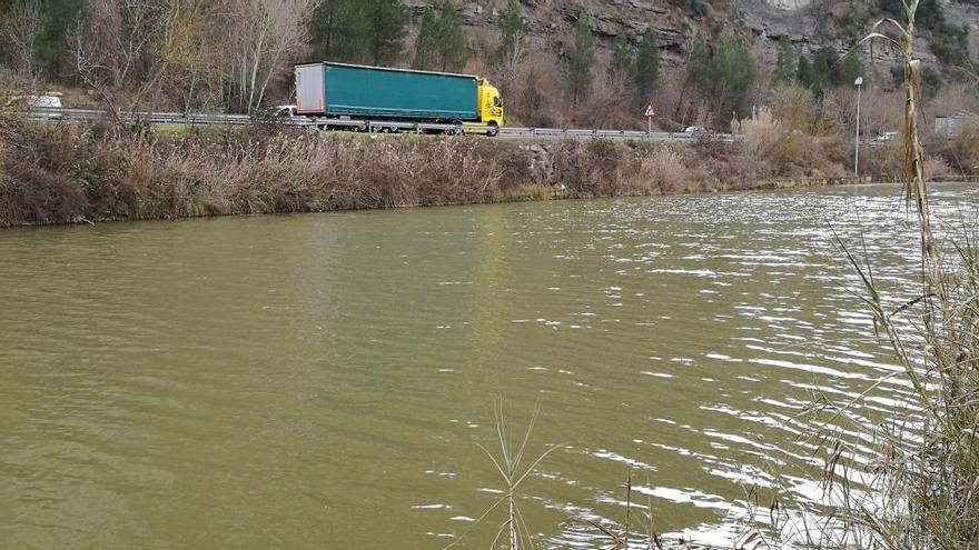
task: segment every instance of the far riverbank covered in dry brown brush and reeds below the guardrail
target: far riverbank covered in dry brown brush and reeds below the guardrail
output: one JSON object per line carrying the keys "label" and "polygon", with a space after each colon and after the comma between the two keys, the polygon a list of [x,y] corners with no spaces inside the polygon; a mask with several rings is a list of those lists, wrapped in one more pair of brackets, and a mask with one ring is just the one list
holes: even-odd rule
{"label": "far riverbank covered in dry brown brush and reeds below the guardrail", "polygon": [[[0,227],[323,212],[847,183],[846,143],[722,143],[316,134],[276,126],[120,134],[2,128]],[[892,179],[891,148],[870,178]]]}

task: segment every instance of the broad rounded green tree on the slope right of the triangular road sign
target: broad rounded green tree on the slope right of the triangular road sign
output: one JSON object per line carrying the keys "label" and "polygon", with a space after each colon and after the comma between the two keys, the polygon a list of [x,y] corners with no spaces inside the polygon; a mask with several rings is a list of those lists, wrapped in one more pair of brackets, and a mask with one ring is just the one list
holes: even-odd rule
{"label": "broad rounded green tree on the slope right of the triangular road sign", "polygon": [[698,41],[686,68],[690,82],[724,109],[738,109],[754,81],[754,59],[740,37],[728,37],[711,47]]}

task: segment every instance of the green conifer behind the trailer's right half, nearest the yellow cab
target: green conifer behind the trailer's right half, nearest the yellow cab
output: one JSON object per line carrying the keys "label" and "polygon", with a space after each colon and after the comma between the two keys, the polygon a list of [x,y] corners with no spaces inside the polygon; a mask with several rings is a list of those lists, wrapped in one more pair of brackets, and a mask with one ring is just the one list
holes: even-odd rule
{"label": "green conifer behind the trailer's right half, nearest the yellow cab", "polygon": [[469,58],[466,31],[448,0],[425,8],[415,46],[416,69],[461,71]]}

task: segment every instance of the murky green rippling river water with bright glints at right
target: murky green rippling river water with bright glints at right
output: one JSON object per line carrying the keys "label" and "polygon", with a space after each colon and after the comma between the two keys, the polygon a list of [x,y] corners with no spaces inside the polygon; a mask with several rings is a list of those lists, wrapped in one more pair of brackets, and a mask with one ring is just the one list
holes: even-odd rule
{"label": "murky green rippling river water with bright glints at right", "polygon": [[[802,409],[894,370],[830,227],[886,286],[892,186],[0,232],[0,547],[439,549],[502,489],[494,398],[534,402],[526,522],[723,542],[744,483],[818,496]],[[979,190],[941,187],[975,222]],[[907,396],[883,383],[853,414]],[[486,548],[488,522],[464,548]]]}

